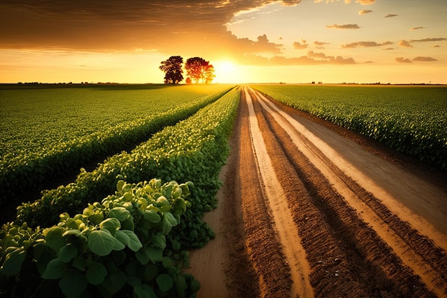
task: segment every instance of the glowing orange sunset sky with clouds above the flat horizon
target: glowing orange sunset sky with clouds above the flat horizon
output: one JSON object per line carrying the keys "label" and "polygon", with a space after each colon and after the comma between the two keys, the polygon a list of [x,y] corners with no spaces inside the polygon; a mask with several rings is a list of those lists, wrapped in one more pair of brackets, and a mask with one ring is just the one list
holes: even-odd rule
{"label": "glowing orange sunset sky with clouds above the flat horizon", "polygon": [[[447,84],[446,0],[2,0],[0,82]],[[185,76],[186,77],[186,76]]]}

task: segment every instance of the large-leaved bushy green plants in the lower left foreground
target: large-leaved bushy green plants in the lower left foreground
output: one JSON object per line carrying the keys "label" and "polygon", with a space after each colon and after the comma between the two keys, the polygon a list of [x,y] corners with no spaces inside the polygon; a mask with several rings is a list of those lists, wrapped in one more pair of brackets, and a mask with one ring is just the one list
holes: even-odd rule
{"label": "large-leaved bushy green plants in the lower left foreground", "polygon": [[189,185],[120,180],[114,195],[74,217],[61,214],[53,227],[7,224],[2,297],[194,297],[200,286],[183,272],[188,253],[170,235],[191,207]]}

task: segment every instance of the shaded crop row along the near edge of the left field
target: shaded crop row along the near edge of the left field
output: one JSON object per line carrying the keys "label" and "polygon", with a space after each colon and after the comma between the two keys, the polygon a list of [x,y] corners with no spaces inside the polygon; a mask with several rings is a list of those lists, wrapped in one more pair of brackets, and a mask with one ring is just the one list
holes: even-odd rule
{"label": "shaded crop row along the near edge of the left field", "polygon": [[[171,107],[171,101],[159,102],[159,106],[164,106],[164,109],[159,108],[159,112],[146,111],[149,116],[144,118],[121,122],[70,141],[54,141],[51,146],[38,152],[16,149],[14,154],[6,154],[0,163],[0,184],[4,185],[0,190],[0,205],[6,200],[16,199],[26,191],[39,189],[46,180],[79,169],[92,159],[114,154],[147,139],[164,126],[174,125],[219,99],[226,91],[228,86],[217,93],[196,99],[192,97],[195,93],[191,92],[174,108]],[[151,101],[156,102],[155,99]]]}

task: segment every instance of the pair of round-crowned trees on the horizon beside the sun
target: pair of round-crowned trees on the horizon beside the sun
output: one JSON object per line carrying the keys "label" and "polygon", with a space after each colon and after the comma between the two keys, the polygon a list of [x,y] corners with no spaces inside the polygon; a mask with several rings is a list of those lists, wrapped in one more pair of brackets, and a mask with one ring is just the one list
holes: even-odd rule
{"label": "pair of round-crowned trees on the horizon beside the sun", "polygon": [[[183,81],[183,58],[181,56],[171,56],[166,61],[161,61],[159,69],[164,71],[164,84],[179,84]],[[186,84],[191,84],[194,80],[196,84],[201,81],[202,84],[210,84],[216,77],[214,75],[214,66],[201,57],[193,57],[186,60],[185,63]]]}

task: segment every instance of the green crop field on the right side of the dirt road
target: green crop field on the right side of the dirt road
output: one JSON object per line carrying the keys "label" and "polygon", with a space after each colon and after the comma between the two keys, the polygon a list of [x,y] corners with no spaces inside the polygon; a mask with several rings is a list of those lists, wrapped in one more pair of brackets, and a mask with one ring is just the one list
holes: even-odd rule
{"label": "green crop field on the right side of the dirt road", "polygon": [[255,86],[296,109],[447,169],[446,88],[427,86]]}

